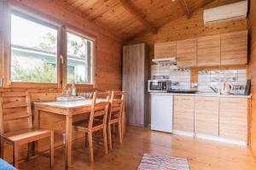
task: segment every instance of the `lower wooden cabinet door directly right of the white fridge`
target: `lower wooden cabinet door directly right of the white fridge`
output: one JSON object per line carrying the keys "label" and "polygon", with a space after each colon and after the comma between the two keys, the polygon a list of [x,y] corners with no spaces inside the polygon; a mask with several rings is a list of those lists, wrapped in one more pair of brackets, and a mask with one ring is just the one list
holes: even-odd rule
{"label": "lower wooden cabinet door directly right of the white fridge", "polygon": [[194,133],[194,96],[174,96],[173,129]]}

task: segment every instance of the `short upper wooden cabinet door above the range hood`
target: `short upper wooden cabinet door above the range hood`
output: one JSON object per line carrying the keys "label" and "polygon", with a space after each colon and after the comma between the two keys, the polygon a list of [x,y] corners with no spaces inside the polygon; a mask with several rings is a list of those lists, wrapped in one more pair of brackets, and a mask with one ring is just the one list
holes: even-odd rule
{"label": "short upper wooden cabinet door above the range hood", "polygon": [[160,42],[154,44],[154,58],[176,57],[176,42]]}

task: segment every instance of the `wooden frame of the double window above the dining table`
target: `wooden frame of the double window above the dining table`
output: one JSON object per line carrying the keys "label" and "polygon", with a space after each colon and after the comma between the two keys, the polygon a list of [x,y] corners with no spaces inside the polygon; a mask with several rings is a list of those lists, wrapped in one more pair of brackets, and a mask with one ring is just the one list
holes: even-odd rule
{"label": "wooden frame of the double window above the dining table", "polygon": [[[3,87],[2,88],[69,88],[71,84],[67,84],[67,31],[84,37],[93,42],[92,54],[92,71],[90,84],[76,84],[77,88],[89,89],[96,88],[96,36],[90,34],[84,29],[79,29],[76,26],[70,25],[65,21],[55,19],[49,14],[44,14],[36,9],[25,6],[16,5],[15,3],[3,3]],[[56,83],[42,83],[42,82],[11,82],[11,12],[15,10],[21,14],[30,16],[33,19],[41,20],[48,23],[50,26],[57,28],[57,82]],[[0,59],[1,61],[1,59]],[[1,73],[1,71],[0,71]],[[1,87],[0,87],[1,88]]]}

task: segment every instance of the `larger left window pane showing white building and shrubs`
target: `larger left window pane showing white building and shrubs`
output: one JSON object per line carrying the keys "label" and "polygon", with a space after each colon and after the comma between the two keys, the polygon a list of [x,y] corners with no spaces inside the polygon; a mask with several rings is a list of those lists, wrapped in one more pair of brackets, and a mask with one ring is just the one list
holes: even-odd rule
{"label": "larger left window pane showing white building and shrubs", "polygon": [[24,14],[11,14],[11,81],[57,82],[57,29]]}

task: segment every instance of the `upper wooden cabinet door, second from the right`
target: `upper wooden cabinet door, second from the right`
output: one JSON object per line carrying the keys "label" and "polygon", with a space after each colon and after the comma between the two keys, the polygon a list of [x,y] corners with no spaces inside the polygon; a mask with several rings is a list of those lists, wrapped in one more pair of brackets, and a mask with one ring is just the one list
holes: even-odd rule
{"label": "upper wooden cabinet door, second from the right", "polygon": [[220,35],[197,39],[197,65],[220,65]]}

